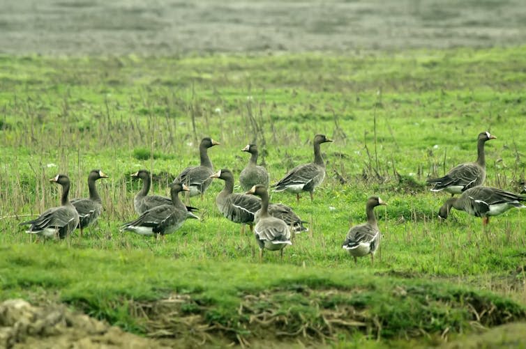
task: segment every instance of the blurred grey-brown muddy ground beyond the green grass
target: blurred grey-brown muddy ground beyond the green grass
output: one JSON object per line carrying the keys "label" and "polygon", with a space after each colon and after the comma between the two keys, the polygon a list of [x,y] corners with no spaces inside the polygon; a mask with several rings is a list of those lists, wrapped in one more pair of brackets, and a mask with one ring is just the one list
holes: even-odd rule
{"label": "blurred grey-brown muddy ground beyond the green grass", "polygon": [[524,0],[3,1],[0,53],[188,54],[526,43]]}

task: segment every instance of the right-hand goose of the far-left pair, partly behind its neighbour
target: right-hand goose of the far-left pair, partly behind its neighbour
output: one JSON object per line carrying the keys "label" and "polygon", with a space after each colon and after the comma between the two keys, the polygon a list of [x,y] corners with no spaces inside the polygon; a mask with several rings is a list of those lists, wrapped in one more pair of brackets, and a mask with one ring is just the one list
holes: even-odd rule
{"label": "right-hand goose of the far-left pair, partly behind its neighbour", "polygon": [[71,199],[71,203],[79,214],[80,222],[78,228],[80,228],[80,236],[82,236],[84,228],[97,222],[98,216],[103,212],[103,201],[100,200],[97,187],[95,186],[96,180],[100,178],[107,178],[103,171],[91,171],[88,176],[89,198]]}

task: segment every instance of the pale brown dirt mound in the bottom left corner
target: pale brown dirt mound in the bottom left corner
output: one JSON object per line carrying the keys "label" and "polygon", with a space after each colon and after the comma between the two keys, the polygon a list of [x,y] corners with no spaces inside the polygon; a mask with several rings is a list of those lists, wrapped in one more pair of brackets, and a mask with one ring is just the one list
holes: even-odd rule
{"label": "pale brown dirt mound in the bottom left corner", "polygon": [[167,348],[89,316],[53,304],[24,300],[0,304],[0,348]]}

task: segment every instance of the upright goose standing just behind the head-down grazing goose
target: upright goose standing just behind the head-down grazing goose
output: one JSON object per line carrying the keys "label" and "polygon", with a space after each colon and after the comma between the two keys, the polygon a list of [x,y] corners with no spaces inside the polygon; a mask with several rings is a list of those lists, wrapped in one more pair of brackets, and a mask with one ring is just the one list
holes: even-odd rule
{"label": "upright goose standing just behind the head-down grazing goose", "polygon": [[484,155],[484,144],[490,139],[497,137],[490,134],[490,132],[481,132],[477,141],[476,162],[465,162],[449,170],[446,176],[441,178],[431,178],[427,182],[435,186],[431,191],[439,192],[444,190],[449,192],[451,196],[455,194],[462,194],[465,190],[483,185],[486,180],[486,156]]}

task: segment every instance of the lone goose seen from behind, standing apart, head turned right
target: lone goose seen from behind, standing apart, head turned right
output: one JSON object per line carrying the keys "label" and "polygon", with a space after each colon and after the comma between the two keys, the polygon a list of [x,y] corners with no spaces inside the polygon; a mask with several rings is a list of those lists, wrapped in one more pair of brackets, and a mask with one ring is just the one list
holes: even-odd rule
{"label": "lone goose seen from behind, standing apart, head turned right", "polygon": [[363,257],[370,254],[371,263],[375,264],[375,253],[380,246],[380,230],[375,216],[375,207],[378,205],[387,205],[378,196],[370,196],[366,203],[367,222],[353,226],[347,232],[347,238],[343,242],[343,249],[349,251],[354,258],[354,264],[357,264],[356,257]]}

